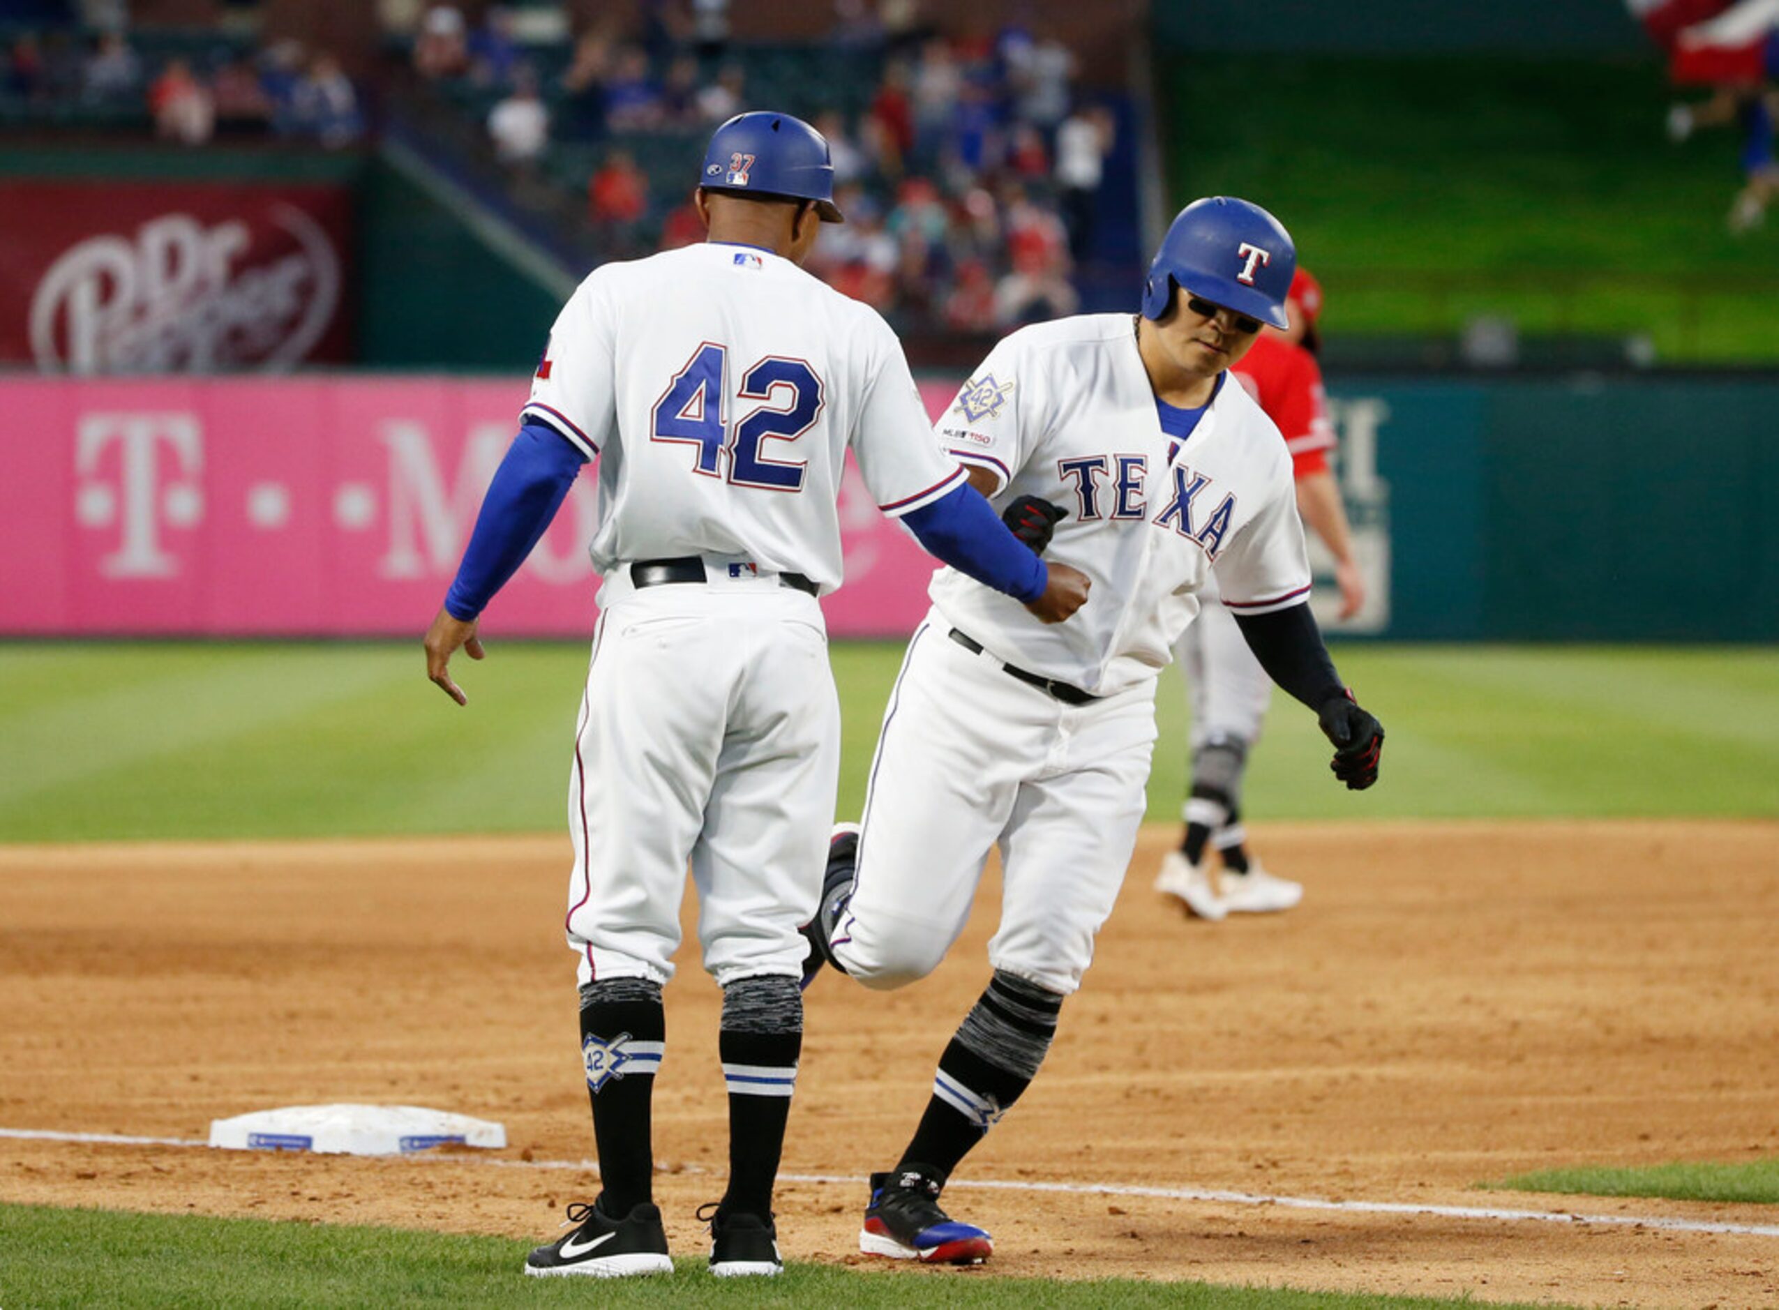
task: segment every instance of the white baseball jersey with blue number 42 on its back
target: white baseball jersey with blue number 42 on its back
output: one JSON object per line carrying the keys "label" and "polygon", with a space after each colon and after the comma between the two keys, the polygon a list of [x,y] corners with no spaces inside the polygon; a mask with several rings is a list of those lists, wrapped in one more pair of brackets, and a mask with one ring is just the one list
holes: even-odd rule
{"label": "white baseball jersey with blue number 42 on its back", "polygon": [[891,516],[964,477],[922,440],[927,411],[877,311],[753,246],[594,269],[550,331],[523,413],[600,457],[600,573],[724,555],[827,593],[841,580],[849,443]]}

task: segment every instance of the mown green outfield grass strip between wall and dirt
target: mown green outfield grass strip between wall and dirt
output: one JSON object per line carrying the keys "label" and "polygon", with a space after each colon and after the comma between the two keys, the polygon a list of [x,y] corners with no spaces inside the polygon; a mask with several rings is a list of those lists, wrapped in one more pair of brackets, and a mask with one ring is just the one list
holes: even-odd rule
{"label": "mown green outfield grass strip between wall and dirt", "polygon": [[[1366,646],[1341,673],[1389,733],[1363,796],[1279,698],[1249,817],[1779,815],[1763,648]],[[411,644],[0,646],[0,840],[553,831],[587,653],[491,646],[457,708]],[[840,644],[840,813],[865,796],[900,646]],[[1185,689],[1158,696],[1151,819],[1178,813]]]}

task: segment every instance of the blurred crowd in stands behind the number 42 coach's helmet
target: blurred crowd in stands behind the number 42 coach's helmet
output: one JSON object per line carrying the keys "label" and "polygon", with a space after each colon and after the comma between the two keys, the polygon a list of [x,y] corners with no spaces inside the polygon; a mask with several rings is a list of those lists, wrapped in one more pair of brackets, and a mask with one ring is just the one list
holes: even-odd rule
{"label": "blurred crowd in stands behind the number 42 coach's helmet", "polygon": [[786,87],[751,71],[724,0],[564,30],[557,59],[521,39],[521,12],[535,20],[507,5],[415,12],[413,69],[487,105],[489,144],[516,174],[585,160],[587,222],[614,256],[701,240],[703,137],[744,109],[785,107],[827,137],[847,215],[822,233],[813,272],[906,328],[984,333],[1075,311],[1069,274],[1092,244],[1115,119],[1080,98],[1055,37],[954,37],[913,0],[840,0],[806,66],[815,84]]}

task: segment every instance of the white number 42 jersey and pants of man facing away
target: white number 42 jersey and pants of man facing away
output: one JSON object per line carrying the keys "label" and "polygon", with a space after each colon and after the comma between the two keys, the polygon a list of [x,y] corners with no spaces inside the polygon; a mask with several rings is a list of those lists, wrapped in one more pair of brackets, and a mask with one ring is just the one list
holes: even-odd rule
{"label": "white number 42 jersey and pants of man facing away", "polygon": [[[687,865],[719,982],[801,974],[840,769],[815,596],[840,586],[852,445],[888,514],[957,486],[902,347],[792,262],[706,244],[594,271],[562,308],[528,420],[600,457],[605,575],[569,780],[580,981],[665,982]],[[697,586],[624,568],[701,555]]]}

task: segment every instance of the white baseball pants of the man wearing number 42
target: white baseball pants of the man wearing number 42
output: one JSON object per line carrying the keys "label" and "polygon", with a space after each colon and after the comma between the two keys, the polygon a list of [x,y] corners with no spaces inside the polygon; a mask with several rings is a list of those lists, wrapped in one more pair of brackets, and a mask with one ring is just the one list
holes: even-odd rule
{"label": "white baseball pants of the man wearing number 42", "polygon": [[799,977],[840,772],[815,596],[777,578],[637,589],[616,570],[569,774],[580,982],[672,977],[687,860],[717,982]]}

